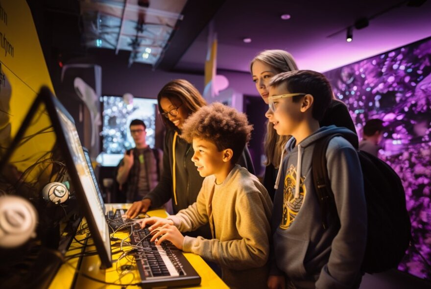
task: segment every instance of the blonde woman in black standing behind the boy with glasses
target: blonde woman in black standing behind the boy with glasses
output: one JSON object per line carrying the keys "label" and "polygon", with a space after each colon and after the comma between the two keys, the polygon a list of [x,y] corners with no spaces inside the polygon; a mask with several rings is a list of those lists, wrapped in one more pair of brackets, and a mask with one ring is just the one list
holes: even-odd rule
{"label": "blonde woman in black standing behind the boy with glasses", "polygon": [[[256,83],[256,89],[262,96],[263,101],[268,103],[268,83],[272,76],[280,72],[289,72],[298,70],[298,66],[293,56],[279,49],[263,50],[250,62],[250,72],[253,81]],[[265,116],[268,117],[272,112],[267,111]],[[328,126],[335,124],[336,126],[347,127],[356,133],[355,125],[350,117],[346,105],[336,100],[334,97],[331,100],[330,107],[323,119],[320,120],[320,126]],[[264,154],[266,156],[266,167],[263,176],[263,185],[268,191],[271,199],[274,198],[274,184],[278,184],[277,173],[281,163],[281,159],[286,152],[284,147],[290,136],[279,136],[274,130],[274,125],[267,122],[266,137],[264,141]],[[277,185],[276,185],[277,186]]]}

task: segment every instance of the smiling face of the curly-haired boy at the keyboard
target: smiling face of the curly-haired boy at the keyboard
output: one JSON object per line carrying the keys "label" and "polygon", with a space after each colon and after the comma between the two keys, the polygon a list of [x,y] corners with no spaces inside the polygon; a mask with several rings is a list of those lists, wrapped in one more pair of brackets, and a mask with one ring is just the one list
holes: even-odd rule
{"label": "smiling face of the curly-haired boy at the keyboard", "polygon": [[224,151],[218,151],[217,146],[207,140],[194,138],[192,142],[194,154],[192,162],[197,167],[201,177],[219,173],[225,166]]}

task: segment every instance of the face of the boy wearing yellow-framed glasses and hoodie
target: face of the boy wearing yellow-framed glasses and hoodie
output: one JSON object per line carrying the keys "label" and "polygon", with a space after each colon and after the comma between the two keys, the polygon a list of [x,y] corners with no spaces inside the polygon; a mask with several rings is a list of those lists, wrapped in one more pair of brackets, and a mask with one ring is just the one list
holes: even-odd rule
{"label": "face of the boy wearing yellow-framed glasses and hoodie", "polygon": [[[285,84],[269,87],[269,96],[291,94]],[[293,102],[292,97],[270,99],[274,102],[274,112],[268,115],[268,120],[274,124],[278,135],[295,135],[298,124],[303,120],[301,113],[301,101]]]}

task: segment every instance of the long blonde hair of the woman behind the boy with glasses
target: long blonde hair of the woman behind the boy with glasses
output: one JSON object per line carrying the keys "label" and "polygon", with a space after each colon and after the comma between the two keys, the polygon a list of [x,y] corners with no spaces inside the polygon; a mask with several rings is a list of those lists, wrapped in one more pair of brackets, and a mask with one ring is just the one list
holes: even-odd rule
{"label": "long blonde hair of the woman behind the boy with glasses", "polygon": [[[274,68],[277,73],[298,70],[293,56],[289,52],[281,49],[269,49],[259,52],[250,62],[250,72],[252,72],[253,64],[256,61],[261,61],[269,65]],[[289,139],[290,136],[279,136],[274,129],[274,125],[269,121],[267,122],[265,141],[263,144],[266,166],[270,164],[275,168],[280,166],[281,152]]]}

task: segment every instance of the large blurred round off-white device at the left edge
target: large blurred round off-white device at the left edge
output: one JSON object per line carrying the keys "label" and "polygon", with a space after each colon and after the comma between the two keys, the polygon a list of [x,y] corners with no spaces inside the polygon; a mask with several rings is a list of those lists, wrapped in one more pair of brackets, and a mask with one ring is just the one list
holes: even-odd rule
{"label": "large blurred round off-white device at the left edge", "polygon": [[0,196],[0,247],[13,248],[36,237],[37,213],[34,206],[17,195]]}

